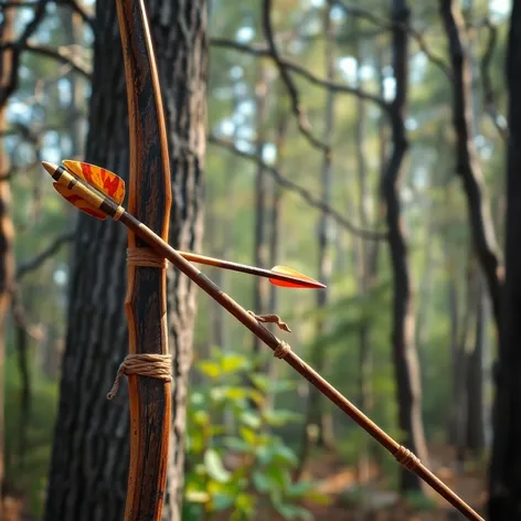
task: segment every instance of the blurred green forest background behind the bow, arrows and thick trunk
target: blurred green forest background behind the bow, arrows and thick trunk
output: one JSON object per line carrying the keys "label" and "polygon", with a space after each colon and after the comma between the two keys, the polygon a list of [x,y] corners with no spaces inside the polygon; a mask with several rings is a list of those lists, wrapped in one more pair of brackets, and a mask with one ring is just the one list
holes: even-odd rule
{"label": "blurred green forest background behind the bow, arrows and thick trunk", "polygon": [[[111,255],[123,258],[126,233],[104,235],[98,259],[96,241],[78,238],[84,217],[52,190],[40,161],[92,160],[89,108],[104,125],[99,98],[89,105],[96,89],[117,89],[126,106],[121,65],[110,61],[120,51],[107,50],[104,83],[92,84],[97,31],[119,38],[117,20],[82,0],[0,7],[3,514],[60,521],[51,507],[44,512],[60,466],[51,460],[68,327],[70,339],[75,329],[88,344],[78,393],[103,408],[87,404],[83,434],[74,422],[67,427],[67,501],[77,502],[70,512],[92,514],[60,519],[113,521],[120,511],[96,504],[120,506],[125,497],[128,449],[107,456],[105,446],[127,445],[126,389],[114,403],[105,394],[126,333],[102,349],[88,330],[100,331],[103,313],[71,287],[81,284],[73,270],[85,247],[92,265],[83,291],[116,295],[104,312],[120,317],[125,331],[125,274]],[[506,389],[519,384],[504,369],[519,369],[519,355],[509,355],[509,333],[501,342],[498,334],[509,322],[501,318],[515,184],[506,189],[509,139],[512,153],[521,147],[509,136],[506,76],[517,11],[508,0],[214,0],[209,18],[200,253],[287,265],[328,289],[203,272],[246,309],[280,315],[295,351],[483,513],[495,482],[510,506],[521,489],[509,472],[520,427]],[[155,17],[151,24],[153,32]],[[518,76],[510,88],[515,79],[519,88]],[[103,153],[118,152],[107,145]],[[100,166],[127,176],[114,160]],[[458,519],[205,295],[192,362],[182,519]],[[497,382],[510,405],[498,407],[493,437]],[[103,476],[85,470],[95,461],[106,465]],[[521,519],[517,512],[489,519]]]}

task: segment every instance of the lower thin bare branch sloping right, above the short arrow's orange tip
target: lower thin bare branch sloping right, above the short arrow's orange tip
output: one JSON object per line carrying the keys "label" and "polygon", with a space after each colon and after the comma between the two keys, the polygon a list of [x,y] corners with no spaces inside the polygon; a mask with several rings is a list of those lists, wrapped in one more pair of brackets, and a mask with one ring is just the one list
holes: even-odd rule
{"label": "lower thin bare branch sloping right, above the short arrow's orange tip", "polygon": [[345,230],[350,231],[353,235],[357,235],[363,238],[369,238],[372,241],[382,241],[382,240],[387,238],[387,234],[385,232],[373,232],[369,230],[360,230],[357,225],[354,225],[349,220],[347,220],[340,212],[337,212],[337,210],[332,209],[320,199],[317,199],[308,190],[298,185],[294,181],[290,181],[289,179],[283,177],[277,168],[267,164],[263,160],[262,157],[240,150],[234,145],[233,141],[220,138],[219,136],[215,136],[215,135],[210,135],[209,142],[212,145],[216,145],[221,148],[224,148],[228,150],[230,152],[234,153],[235,156],[238,156],[244,159],[248,159],[249,161],[253,161],[256,164],[260,164],[265,169],[265,171],[268,172],[277,181],[278,184],[280,184],[287,190],[298,193],[309,205],[318,210],[321,210],[322,212],[330,215],[331,219],[333,219],[338,224],[343,226]]}

